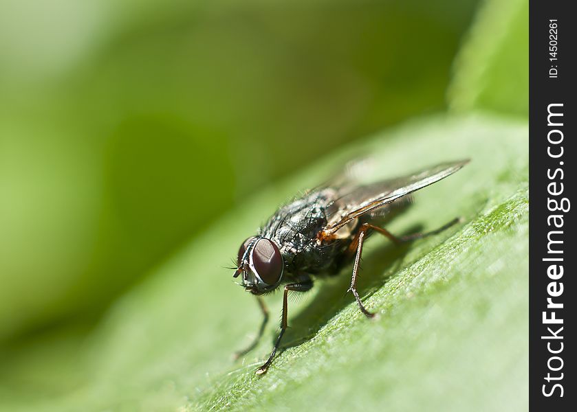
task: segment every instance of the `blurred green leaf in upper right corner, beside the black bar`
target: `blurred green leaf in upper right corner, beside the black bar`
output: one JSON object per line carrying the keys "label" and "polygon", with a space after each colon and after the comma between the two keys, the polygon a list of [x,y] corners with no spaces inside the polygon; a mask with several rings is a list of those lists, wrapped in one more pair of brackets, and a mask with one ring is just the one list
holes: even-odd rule
{"label": "blurred green leaf in upper right corner, beside the black bar", "polygon": [[453,110],[483,108],[527,117],[528,1],[487,0],[477,13],[454,69],[448,90]]}

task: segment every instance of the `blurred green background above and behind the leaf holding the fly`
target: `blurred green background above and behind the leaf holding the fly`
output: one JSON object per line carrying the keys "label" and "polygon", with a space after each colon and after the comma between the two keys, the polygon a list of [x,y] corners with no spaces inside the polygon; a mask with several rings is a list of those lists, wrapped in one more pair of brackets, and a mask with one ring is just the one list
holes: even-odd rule
{"label": "blurred green background above and behind the leaf holding the fly", "polygon": [[446,111],[526,119],[526,3],[497,4],[2,1],[4,376],[80,352],[184,242],[340,146]]}

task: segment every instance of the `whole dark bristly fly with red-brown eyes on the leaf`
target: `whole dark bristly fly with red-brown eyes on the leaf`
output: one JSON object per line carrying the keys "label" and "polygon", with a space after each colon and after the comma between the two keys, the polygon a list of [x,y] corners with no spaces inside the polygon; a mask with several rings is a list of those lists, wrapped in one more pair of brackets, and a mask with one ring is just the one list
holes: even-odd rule
{"label": "whole dark bristly fly with red-brown eyes on the leaf", "polygon": [[261,295],[283,286],[281,332],[257,374],[267,371],[287,329],[288,293],[306,292],[312,288],[314,277],[336,275],[351,262],[353,273],[347,292],[352,293],[365,316],[373,317],[374,313],[362,304],[356,287],[364,240],[371,233],[381,233],[393,243],[401,244],[440,233],[457,223],[458,218],[434,231],[401,237],[383,227],[411,205],[413,192],[450,176],[466,163],[468,160],[441,163],[364,185],[352,179],[335,179],[278,209],[259,234],[241,244],[237,256],[234,277],[240,277],[242,286],[257,297],[264,315],[257,339],[246,350],[237,352],[237,356],[255,347],[263,334],[268,310]]}

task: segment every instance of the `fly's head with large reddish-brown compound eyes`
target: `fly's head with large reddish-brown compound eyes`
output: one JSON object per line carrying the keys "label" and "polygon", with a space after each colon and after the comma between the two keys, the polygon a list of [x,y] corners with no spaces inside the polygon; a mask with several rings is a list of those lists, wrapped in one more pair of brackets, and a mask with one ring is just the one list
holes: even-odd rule
{"label": "fly's head with large reddish-brown compound eyes", "polygon": [[263,295],[281,284],[285,264],[279,247],[267,238],[252,236],[241,244],[234,277],[253,295]]}

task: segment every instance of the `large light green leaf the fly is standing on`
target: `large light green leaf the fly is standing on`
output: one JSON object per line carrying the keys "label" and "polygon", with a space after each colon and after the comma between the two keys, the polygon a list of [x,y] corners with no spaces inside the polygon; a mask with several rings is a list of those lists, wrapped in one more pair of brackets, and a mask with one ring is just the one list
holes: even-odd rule
{"label": "large light green leaf the fly is standing on", "polygon": [[[286,350],[256,376],[276,336],[281,296],[267,298],[264,339],[233,363],[260,314],[222,266],[279,203],[363,153],[377,160],[375,179],[470,157],[418,192],[388,229],[465,222],[401,248],[372,237],[359,286],[378,319],[365,319],[345,296],[350,268],[319,280],[307,299],[290,301]],[[4,368],[0,388],[25,382],[9,393],[26,396],[0,391],[0,409],[34,401],[36,411],[525,410],[527,180],[527,126],[497,117],[436,117],[345,148],[247,199],[156,268],[112,308],[85,343],[80,372],[50,399],[30,391],[25,371]]]}

